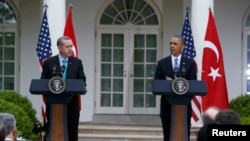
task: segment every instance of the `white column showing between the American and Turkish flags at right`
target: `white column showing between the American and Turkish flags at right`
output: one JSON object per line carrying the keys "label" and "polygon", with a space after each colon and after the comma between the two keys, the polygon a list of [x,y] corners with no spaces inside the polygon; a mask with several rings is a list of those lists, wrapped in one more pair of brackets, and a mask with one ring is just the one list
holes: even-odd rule
{"label": "white column showing between the American and Turkish flags at right", "polygon": [[203,43],[207,28],[209,8],[213,11],[213,4],[214,0],[192,0],[191,4],[191,28],[197,56],[198,79],[201,79]]}

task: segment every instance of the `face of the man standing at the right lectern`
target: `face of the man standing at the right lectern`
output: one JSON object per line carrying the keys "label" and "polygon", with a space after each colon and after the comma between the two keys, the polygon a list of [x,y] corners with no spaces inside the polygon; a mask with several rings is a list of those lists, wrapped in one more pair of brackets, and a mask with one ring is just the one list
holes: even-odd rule
{"label": "face of the man standing at the right lectern", "polygon": [[179,56],[184,49],[184,45],[179,38],[172,37],[170,40],[170,53]]}

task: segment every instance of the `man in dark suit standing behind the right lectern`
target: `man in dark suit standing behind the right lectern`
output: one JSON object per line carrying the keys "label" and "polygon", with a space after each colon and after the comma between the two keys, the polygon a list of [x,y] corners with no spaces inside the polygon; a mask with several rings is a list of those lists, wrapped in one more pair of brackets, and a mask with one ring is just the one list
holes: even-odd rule
{"label": "man in dark suit standing behind the right lectern", "polygon": [[[179,36],[173,36],[170,40],[171,55],[161,59],[157,63],[154,79],[159,80],[174,80],[177,77],[183,77],[187,80],[197,80],[196,64],[192,59],[185,58],[181,55],[185,47],[184,39]],[[175,67],[177,58],[178,67]],[[177,70],[176,70],[177,69]],[[170,140],[171,128],[171,110],[172,106],[167,101],[165,96],[161,96],[160,117],[162,121],[164,141]],[[191,126],[191,102],[187,108],[187,127]],[[190,135],[190,128],[188,128]]]}

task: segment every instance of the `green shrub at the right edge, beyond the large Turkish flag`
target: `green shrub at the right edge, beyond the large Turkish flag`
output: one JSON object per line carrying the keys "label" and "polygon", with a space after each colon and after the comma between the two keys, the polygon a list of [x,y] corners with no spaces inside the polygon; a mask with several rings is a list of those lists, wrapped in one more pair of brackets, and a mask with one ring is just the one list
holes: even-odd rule
{"label": "green shrub at the right edge, beyond the large Turkish flag", "polygon": [[242,124],[250,124],[250,95],[241,95],[230,101],[230,108],[241,117]]}

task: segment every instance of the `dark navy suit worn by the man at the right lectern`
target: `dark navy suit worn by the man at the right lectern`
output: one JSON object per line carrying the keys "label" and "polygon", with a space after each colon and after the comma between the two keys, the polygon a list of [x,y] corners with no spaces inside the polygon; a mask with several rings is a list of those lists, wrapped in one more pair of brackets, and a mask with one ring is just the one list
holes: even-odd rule
{"label": "dark navy suit worn by the man at the right lectern", "polygon": [[[192,59],[181,57],[179,72],[176,74],[177,77],[183,77],[187,80],[197,80],[196,74],[196,63]],[[155,71],[154,79],[166,80],[166,77],[171,77],[175,79],[175,72],[172,65],[171,55],[167,56],[158,61]],[[161,110],[160,117],[162,121],[162,128],[164,134],[164,141],[169,141],[170,139],[170,128],[171,128],[171,104],[167,101],[165,96],[161,96]],[[191,125],[191,115],[192,115],[191,102],[187,106],[187,126]],[[190,135],[190,128],[188,128],[188,134]]]}

